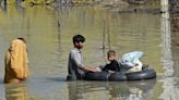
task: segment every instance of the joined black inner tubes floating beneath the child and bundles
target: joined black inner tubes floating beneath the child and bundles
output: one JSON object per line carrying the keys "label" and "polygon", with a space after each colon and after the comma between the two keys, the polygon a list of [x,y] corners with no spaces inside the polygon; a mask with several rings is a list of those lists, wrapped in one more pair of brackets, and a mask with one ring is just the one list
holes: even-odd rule
{"label": "joined black inner tubes floating beneath the child and bundles", "polygon": [[86,73],[86,80],[112,80],[112,82],[123,82],[123,80],[141,80],[141,79],[152,79],[156,77],[156,72],[154,70],[144,68],[141,72],[134,73],[108,73],[108,72],[98,72],[98,73]]}

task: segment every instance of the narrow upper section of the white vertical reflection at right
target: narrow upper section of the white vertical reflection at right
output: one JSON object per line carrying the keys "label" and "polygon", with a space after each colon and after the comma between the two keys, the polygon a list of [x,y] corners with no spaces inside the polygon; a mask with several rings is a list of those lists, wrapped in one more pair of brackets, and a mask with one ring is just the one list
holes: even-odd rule
{"label": "narrow upper section of the white vertical reflection at right", "polygon": [[174,61],[171,54],[171,29],[170,29],[170,21],[169,21],[169,12],[167,0],[163,0],[162,2],[162,11],[166,13],[162,14],[162,38],[163,38],[163,62],[165,68],[165,75],[171,76],[174,73]]}

